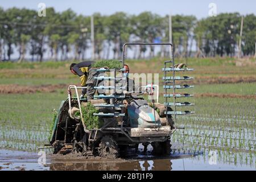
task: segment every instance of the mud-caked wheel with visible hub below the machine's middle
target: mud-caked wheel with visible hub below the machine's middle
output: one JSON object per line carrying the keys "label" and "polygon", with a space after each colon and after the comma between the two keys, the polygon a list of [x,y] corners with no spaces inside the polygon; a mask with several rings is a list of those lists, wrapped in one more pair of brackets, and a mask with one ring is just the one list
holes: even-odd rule
{"label": "mud-caked wheel with visible hub below the machine's middle", "polygon": [[118,158],[119,148],[113,137],[102,137],[100,142],[100,156],[104,158]]}

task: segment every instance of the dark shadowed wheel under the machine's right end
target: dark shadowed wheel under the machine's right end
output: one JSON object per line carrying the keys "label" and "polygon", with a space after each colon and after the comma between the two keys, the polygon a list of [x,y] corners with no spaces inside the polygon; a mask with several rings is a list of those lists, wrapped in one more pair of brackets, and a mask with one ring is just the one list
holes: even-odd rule
{"label": "dark shadowed wheel under the machine's right end", "polygon": [[170,155],[171,153],[171,143],[170,140],[164,142],[152,142],[151,146],[153,147],[152,154],[154,155]]}

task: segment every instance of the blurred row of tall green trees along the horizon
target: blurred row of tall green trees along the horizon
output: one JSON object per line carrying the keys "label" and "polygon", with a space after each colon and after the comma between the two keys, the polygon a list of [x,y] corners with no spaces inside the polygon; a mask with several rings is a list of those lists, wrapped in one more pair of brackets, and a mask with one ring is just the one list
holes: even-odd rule
{"label": "blurred row of tall green trees along the horizon", "polygon": [[[223,13],[216,17],[196,19],[195,16],[172,16],[172,42],[175,56],[236,56],[240,39],[239,13]],[[256,16],[243,17],[242,55],[255,54]],[[56,12],[49,7],[46,16],[30,9],[0,7],[0,60],[11,60],[14,48],[19,61],[26,53],[31,60],[42,61],[47,49],[51,59],[84,60],[90,49],[90,16],[78,15],[71,9]],[[93,14],[94,51],[96,59],[118,59],[126,42],[169,42],[169,17],[151,12],[130,15]],[[193,51],[193,43],[196,51]],[[134,47],[133,58],[168,56],[168,50],[154,47]],[[88,51],[87,51],[88,52]],[[112,57],[110,57],[110,54]]]}

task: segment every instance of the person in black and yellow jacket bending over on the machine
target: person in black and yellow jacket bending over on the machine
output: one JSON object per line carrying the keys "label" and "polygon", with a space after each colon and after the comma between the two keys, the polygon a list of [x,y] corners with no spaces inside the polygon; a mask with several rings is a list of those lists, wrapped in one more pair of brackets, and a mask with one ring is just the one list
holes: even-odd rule
{"label": "person in black and yellow jacket bending over on the machine", "polygon": [[96,92],[93,86],[97,84],[94,77],[97,76],[98,73],[95,69],[90,69],[93,63],[93,61],[83,61],[78,64],[72,63],[70,65],[71,73],[80,76],[81,86],[87,86],[87,89],[82,88],[82,94],[80,96],[80,98],[84,98],[86,94],[87,100],[92,100]]}

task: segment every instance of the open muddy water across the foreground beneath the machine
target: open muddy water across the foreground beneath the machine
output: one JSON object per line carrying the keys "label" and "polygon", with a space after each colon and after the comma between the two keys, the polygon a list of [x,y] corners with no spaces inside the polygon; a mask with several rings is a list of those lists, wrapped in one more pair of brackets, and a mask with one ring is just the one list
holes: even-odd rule
{"label": "open muddy water across the foreground beneath the machine", "polygon": [[40,160],[42,154],[0,150],[0,170],[256,170],[254,165],[214,162],[203,152],[174,153],[164,158],[145,155],[142,150],[139,154],[131,153],[129,156],[115,160],[46,154],[46,163],[42,164],[40,163],[43,161]]}

